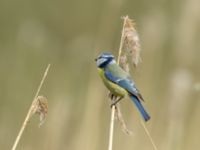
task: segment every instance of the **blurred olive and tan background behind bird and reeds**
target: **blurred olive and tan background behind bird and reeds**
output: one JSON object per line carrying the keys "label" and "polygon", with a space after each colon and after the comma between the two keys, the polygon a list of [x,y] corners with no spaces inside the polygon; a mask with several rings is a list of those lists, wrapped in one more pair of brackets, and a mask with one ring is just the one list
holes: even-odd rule
{"label": "blurred olive and tan background behind bird and reeds", "polygon": [[[142,63],[132,70],[159,150],[200,147],[199,0],[0,0],[0,149],[11,149],[43,72],[45,124],[33,117],[21,150],[105,150],[110,106],[94,58],[118,54],[122,19],[134,19]],[[115,150],[153,150],[129,100],[115,124]]]}

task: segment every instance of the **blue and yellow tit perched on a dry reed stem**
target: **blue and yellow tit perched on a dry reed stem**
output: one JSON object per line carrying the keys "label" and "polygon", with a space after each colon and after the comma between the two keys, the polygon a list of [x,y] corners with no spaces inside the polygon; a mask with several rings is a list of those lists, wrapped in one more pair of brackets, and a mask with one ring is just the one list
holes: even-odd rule
{"label": "blue and yellow tit perched on a dry reed stem", "polygon": [[144,101],[142,95],[130,75],[116,63],[115,57],[109,52],[103,52],[95,61],[104,85],[111,92],[112,97],[118,98],[111,106],[128,96],[134,102],[144,121],[148,121],[150,115],[142,105]]}

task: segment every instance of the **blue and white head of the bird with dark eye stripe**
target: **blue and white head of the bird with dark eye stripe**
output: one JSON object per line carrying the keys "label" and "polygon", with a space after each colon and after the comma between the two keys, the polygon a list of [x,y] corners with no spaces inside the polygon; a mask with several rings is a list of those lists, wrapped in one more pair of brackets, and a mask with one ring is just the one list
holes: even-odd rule
{"label": "blue and white head of the bird with dark eye stripe", "polygon": [[97,67],[104,68],[108,64],[116,63],[114,56],[111,53],[101,53],[96,59]]}

